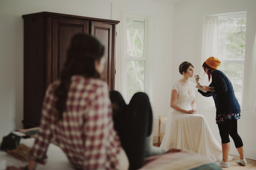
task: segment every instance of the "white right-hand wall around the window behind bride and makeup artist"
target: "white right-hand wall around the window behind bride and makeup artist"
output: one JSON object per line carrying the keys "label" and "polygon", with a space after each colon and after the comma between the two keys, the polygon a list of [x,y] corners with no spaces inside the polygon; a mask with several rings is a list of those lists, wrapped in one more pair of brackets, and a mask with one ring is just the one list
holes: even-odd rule
{"label": "white right-hand wall around the window behind bride and makeup artist", "polygon": [[[200,69],[202,69],[203,15],[247,11],[247,23],[250,22],[252,28],[250,32],[252,33],[254,31],[255,35],[256,17],[252,17],[253,15],[255,16],[255,10],[255,0],[184,0],[174,5],[172,83],[180,78],[178,66],[183,61],[191,62],[195,66],[195,73],[200,74]],[[249,29],[246,28],[246,31],[249,31]],[[251,36],[253,36],[253,33]],[[246,39],[249,37],[250,35],[246,35]],[[249,46],[249,44],[246,45]],[[191,79],[191,81],[195,83],[195,80]],[[199,113],[206,117],[215,138],[221,143],[218,126],[215,123],[215,110],[204,111],[200,110],[200,107],[197,108],[199,108]],[[256,113],[241,111],[241,119],[238,120],[238,134],[244,143],[245,157],[254,160],[256,160],[255,122]],[[230,141],[230,154],[238,155],[231,138]]]}

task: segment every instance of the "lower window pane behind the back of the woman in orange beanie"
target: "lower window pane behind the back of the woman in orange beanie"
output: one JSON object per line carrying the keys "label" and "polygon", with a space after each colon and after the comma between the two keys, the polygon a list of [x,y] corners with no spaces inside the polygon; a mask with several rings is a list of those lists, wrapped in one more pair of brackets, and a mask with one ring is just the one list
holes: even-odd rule
{"label": "lower window pane behind the back of the woman in orange beanie", "polygon": [[244,82],[244,64],[243,63],[221,63],[218,67],[223,73],[229,77],[238,102],[242,105],[242,93]]}

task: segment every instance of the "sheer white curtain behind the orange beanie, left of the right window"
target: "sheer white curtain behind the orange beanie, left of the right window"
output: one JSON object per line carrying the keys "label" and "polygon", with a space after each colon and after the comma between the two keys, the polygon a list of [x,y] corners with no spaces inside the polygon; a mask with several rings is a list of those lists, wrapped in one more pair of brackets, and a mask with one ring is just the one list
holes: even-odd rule
{"label": "sheer white curtain behind the orange beanie, left of the right window", "polygon": [[[203,18],[203,44],[202,44],[202,65],[209,57],[218,58],[218,16],[204,16]],[[201,66],[202,66],[201,65]],[[201,69],[201,85],[209,85],[207,74],[204,75]],[[199,102],[202,105],[211,106],[214,104],[212,97],[199,96]]]}

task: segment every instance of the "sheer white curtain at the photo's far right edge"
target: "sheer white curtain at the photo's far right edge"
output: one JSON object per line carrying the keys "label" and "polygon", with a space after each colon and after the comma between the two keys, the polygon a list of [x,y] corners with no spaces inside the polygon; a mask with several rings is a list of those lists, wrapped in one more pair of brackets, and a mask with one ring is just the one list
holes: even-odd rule
{"label": "sheer white curtain at the photo's far right edge", "polygon": [[245,102],[245,108],[247,111],[251,111],[251,112],[256,112],[256,36],[255,36],[255,40],[254,40],[254,45],[253,45],[253,49],[252,49],[252,56],[246,56],[246,57],[250,57],[251,61],[250,61],[250,66],[247,75],[248,76],[248,88],[245,88],[245,95],[246,95],[246,99],[247,102]]}

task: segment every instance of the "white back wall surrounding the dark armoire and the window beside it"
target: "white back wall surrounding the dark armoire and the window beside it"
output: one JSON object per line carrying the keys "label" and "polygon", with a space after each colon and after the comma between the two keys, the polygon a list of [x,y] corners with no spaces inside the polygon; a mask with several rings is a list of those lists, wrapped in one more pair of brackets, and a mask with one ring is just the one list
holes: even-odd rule
{"label": "white back wall surrounding the dark armoire and the window beside it", "polygon": [[0,0],[0,134],[23,128],[22,15],[48,11],[111,19],[112,2],[156,11],[153,135],[157,139],[158,116],[169,109],[173,5],[147,0]]}

